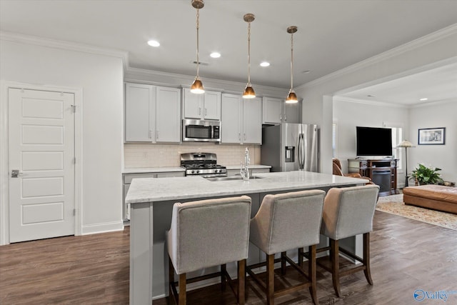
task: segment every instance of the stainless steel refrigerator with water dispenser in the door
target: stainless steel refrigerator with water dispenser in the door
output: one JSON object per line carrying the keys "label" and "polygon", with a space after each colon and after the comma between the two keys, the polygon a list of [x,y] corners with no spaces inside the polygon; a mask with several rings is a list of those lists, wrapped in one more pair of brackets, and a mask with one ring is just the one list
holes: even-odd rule
{"label": "stainless steel refrigerator with water dispenser in the door", "polygon": [[318,172],[318,126],[279,124],[262,128],[261,164],[271,171]]}

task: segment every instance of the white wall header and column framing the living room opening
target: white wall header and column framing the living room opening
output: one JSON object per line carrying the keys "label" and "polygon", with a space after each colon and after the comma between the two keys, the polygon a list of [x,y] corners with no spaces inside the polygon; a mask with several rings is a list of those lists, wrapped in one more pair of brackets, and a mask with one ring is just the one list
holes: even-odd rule
{"label": "white wall header and column framing the living room opening", "polygon": [[449,26],[296,88],[303,98],[303,121],[321,128],[321,172],[331,173],[331,96],[436,67],[456,58],[456,41],[457,26]]}

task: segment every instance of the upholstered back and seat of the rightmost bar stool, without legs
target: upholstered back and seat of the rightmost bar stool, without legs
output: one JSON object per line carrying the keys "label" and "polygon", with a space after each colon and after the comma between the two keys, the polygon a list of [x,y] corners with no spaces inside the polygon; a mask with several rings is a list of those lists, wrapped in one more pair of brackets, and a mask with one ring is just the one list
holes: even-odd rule
{"label": "upholstered back and seat of the rightmost bar stool, without legs", "polygon": [[343,239],[373,231],[379,186],[342,187],[328,190],[323,204],[322,234]]}

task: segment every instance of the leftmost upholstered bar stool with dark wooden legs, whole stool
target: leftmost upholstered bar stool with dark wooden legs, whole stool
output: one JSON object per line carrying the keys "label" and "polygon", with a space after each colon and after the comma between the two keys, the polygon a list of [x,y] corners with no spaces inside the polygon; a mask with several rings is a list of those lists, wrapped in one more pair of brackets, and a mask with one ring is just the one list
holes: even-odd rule
{"label": "leftmost upholstered bar stool with dark wooden legs, whole stool", "polygon": [[[186,283],[221,276],[244,304],[246,259],[248,257],[251,198],[238,196],[223,199],[176,203],[171,216],[171,229],[166,232],[169,251],[169,301],[186,304]],[[238,285],[235,289],[226,271],[226,263],[237,261]],[[186,273],[210,266],[221,266],[214,274],[186,279]],[[175,282],[174,274],[179,275]],[[176,290],[179,286],[179,294]]]}

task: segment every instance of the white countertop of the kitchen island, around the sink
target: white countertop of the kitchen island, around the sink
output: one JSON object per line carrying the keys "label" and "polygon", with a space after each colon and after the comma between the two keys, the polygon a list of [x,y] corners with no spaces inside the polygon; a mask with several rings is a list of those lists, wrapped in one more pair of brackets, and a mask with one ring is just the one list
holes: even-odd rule
{"label": "white countertop of the kitchen island, around the sink", "polygon": [[286,171],[255,174],[253,176],[261,177],[261,179],[251,179],[249,181],[208,181],[201,176],[133,179],[126,196],[126,203],[178,201],[181,199],[313,189],[364,184],[368,182],[366,179],[313,173],[311,171]]}

